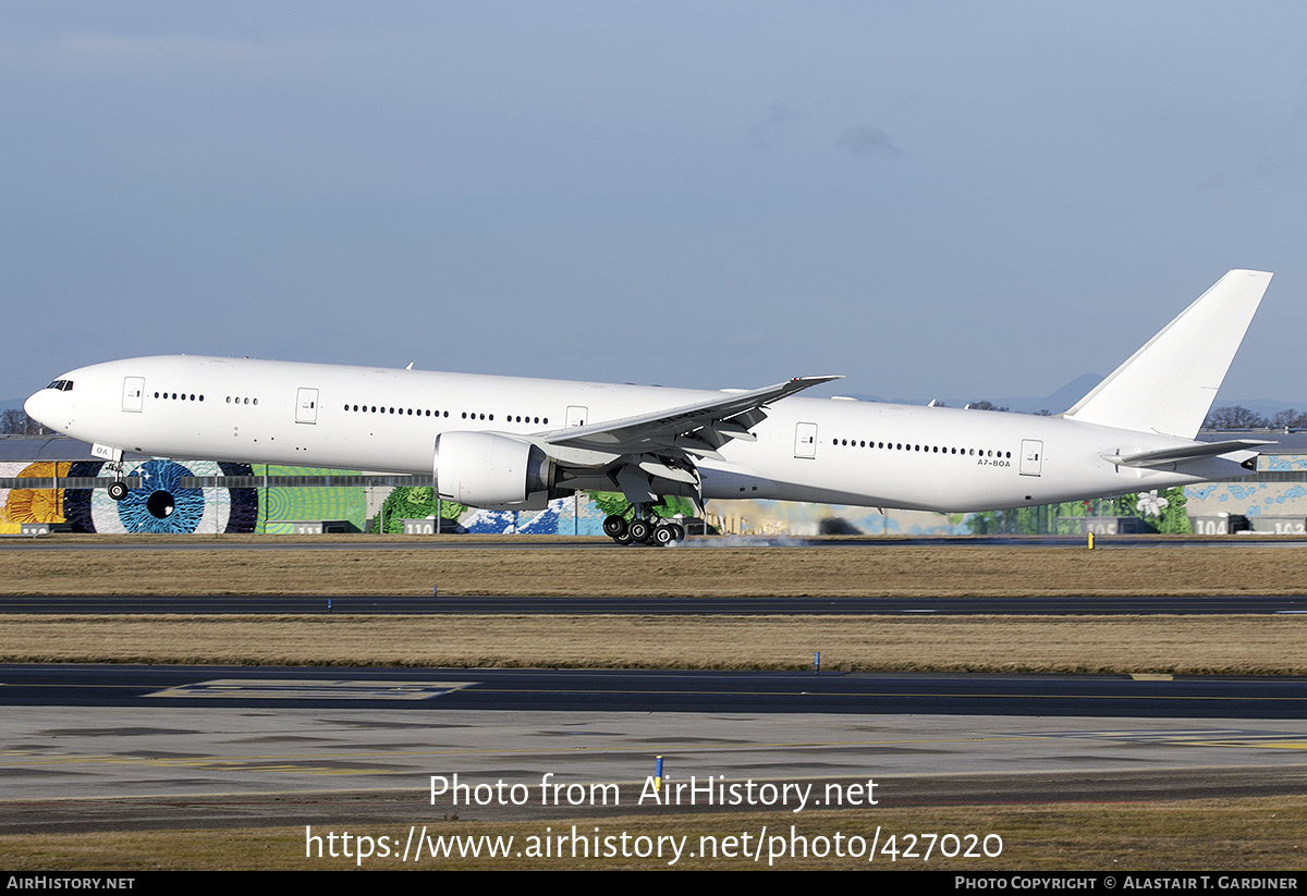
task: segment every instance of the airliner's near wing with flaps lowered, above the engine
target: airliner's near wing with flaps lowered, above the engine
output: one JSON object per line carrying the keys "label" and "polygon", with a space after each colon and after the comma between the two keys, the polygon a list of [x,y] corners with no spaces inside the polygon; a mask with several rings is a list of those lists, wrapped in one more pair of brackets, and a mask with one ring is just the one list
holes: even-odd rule
{"label": "airliner's near wing with flaps lowered, above the engine", "polygon": [[650,414],[605,421],[570,430],[558,430],[532,439],[549,452],[572,448],[604,455],[689,453],[716,456],[716,449],[731,439],[752,441],[749,427],[766,419],[766,406],[786,396],[839,376],[796,376],[792,380],[749,392],[733,392],[693,405],[670,408]]}

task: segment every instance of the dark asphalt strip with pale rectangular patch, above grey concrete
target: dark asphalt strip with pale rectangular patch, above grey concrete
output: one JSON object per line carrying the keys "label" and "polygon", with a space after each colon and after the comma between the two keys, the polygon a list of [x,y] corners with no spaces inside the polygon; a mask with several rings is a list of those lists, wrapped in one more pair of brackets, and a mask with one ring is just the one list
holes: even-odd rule
{"label": "dark asphalt strip with pale rectangular patch, above grey concrete", "polygon": [[1300,720],[1307,678],[7,665],[0,705]]}

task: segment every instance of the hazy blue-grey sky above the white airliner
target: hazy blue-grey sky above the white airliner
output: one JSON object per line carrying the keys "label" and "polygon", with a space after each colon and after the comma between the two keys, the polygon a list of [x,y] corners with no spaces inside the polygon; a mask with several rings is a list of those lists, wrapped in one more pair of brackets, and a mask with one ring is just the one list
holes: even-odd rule
{"label": "hazy blue-grey sky above the white airliner", "polygon": [[178,353],[1042,396],[1256,268],[1218,404],[1307,408],[1304,33],[1298,3],[0,0],[0,398]]}

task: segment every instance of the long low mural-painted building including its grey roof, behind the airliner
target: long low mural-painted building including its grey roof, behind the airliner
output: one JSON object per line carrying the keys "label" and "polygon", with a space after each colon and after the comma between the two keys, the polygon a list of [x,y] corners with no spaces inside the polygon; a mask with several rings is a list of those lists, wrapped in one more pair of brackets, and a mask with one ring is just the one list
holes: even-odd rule
{"label": "long low mural-painted building including its grey roof, behind the airliner", "polygon": [[[1221,432],[1213,438],[1268,439],[1276,444],[1265,445],[1256,474],[1246,479],[1183,488],[1189,528],[1200,534],[1243,528],[1259,534],[1302,534],[1307,521],[1307,432]],[[175,534],[382,529],[426,534],[435,532],[439,517],[442,532],[600,536],[612,500],[586,495],[550,502],[544,511],[494,512],[438,502],[430,477],[141,456],[127,456],[124,464],[131,490],[124,500],[115,502],[103,487],[105,462],[91,456],[90,445],[67,436],[0,436],[0,534],[51,528]],[[1081,520],[1072,522],[1107,533],[1116,532],[1107,528],[1108,520],[1138,516],[1149,529],[1149,519],[1165,513],[1167,503],[1180,498],[1145,492],[1125,502],[1082,502],[1072,508]],[[999,522],[991,524],[989,516]],[[1006,525],[1002,513],[882,513],[863,507],[770,500],[714,500],[706,517],[719,532],[769,536],[974,534],[987,532],[988,525]],[[1051,508],[1033,519],[1039,521],[1034,532],[1069,530],[1067,519]]]}

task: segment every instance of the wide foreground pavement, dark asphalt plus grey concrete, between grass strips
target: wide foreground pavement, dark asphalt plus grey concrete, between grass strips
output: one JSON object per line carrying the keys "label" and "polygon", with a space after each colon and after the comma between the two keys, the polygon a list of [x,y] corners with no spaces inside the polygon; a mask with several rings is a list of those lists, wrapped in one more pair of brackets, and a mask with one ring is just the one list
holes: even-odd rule
{"label": "wide foreground pavement, dark asphalt plus grey concrete, between grass strips", "polygon": [[[886,806],[1303,793],[1307,682],[1264,684],[4,666],[0,833],[659,811],[635,799],[659,755],[673,780],[876,780]],[[433,805],[455,773],[626,802]]]}

